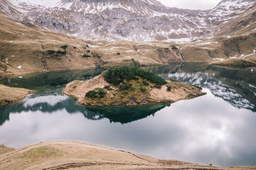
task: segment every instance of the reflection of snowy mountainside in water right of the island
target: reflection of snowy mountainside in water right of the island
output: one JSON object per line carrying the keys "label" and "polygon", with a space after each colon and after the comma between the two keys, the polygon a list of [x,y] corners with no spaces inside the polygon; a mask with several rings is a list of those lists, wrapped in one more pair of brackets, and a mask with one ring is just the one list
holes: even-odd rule
{"label": "reflection of snowy mountainside in water right of the island", "polygon": [[[255,70],[256,71],[256,70]],[[256,111],[256,72],[253,69],[227,69],[207,64],[185,63],[157,67],[165,79],[174,78],[210,89],[236,108]]]}

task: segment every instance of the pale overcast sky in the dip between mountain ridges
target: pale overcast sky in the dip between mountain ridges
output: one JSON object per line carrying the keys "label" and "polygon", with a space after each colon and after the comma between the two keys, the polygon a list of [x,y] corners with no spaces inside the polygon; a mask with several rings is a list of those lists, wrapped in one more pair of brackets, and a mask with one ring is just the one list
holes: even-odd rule
{"label": "pale overcast sky in the dip between mountain ridges", "polygon": [[214,8],[221,0],[157,0],[165,6],[184,8],[190,10],[209,10]]}

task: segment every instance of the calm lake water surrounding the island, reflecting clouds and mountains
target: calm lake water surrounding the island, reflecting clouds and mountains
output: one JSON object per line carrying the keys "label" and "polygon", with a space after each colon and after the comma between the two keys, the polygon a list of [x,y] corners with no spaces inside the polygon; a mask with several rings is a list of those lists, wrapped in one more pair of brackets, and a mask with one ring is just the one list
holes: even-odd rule
{"label": "calm lake water surrounding the island, reflecting clouds and mountains", "polygon": [[200,85],[207,95],[167,105],[86,107],[65,96],[63,87],[102,70],[1,78],[5,85],[37,92],[0,107],[0,143],[20,148],[74,140],[160,159],[256,165],[256,68],[188,63],[150,69],[166,79]]}

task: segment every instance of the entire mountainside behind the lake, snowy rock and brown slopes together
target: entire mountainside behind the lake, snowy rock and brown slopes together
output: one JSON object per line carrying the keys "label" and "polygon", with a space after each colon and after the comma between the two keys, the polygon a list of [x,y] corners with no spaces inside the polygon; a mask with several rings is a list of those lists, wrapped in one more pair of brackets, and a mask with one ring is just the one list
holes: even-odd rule
{"label": "entire mountainside behind the lake, snowy rock and brown slopes together", "polygon": [[168,8],[155,0],[52,2],[0,1],[0,76],[127,66],[131,59],[142,66],[256,62],[251,0],[221,1],[207,11]]}

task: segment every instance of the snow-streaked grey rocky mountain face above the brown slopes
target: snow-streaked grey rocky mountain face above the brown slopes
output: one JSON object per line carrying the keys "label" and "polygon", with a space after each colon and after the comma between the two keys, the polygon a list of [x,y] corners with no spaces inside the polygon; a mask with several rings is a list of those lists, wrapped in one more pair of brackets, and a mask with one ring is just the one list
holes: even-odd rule
{"label": "snow-streaked grey rocky mountain face above the brown slopes", "polygon": [[[239,29],[255,29],[255,4],[255,0],[223,0],[212,10],[201,11],[169,8],[156,0],[2,0],[0,7],[20,21],[84,39],[190,41],[230,34],[230,25],[251,15]],[[13,6],[19,15],[9,12]]]}

